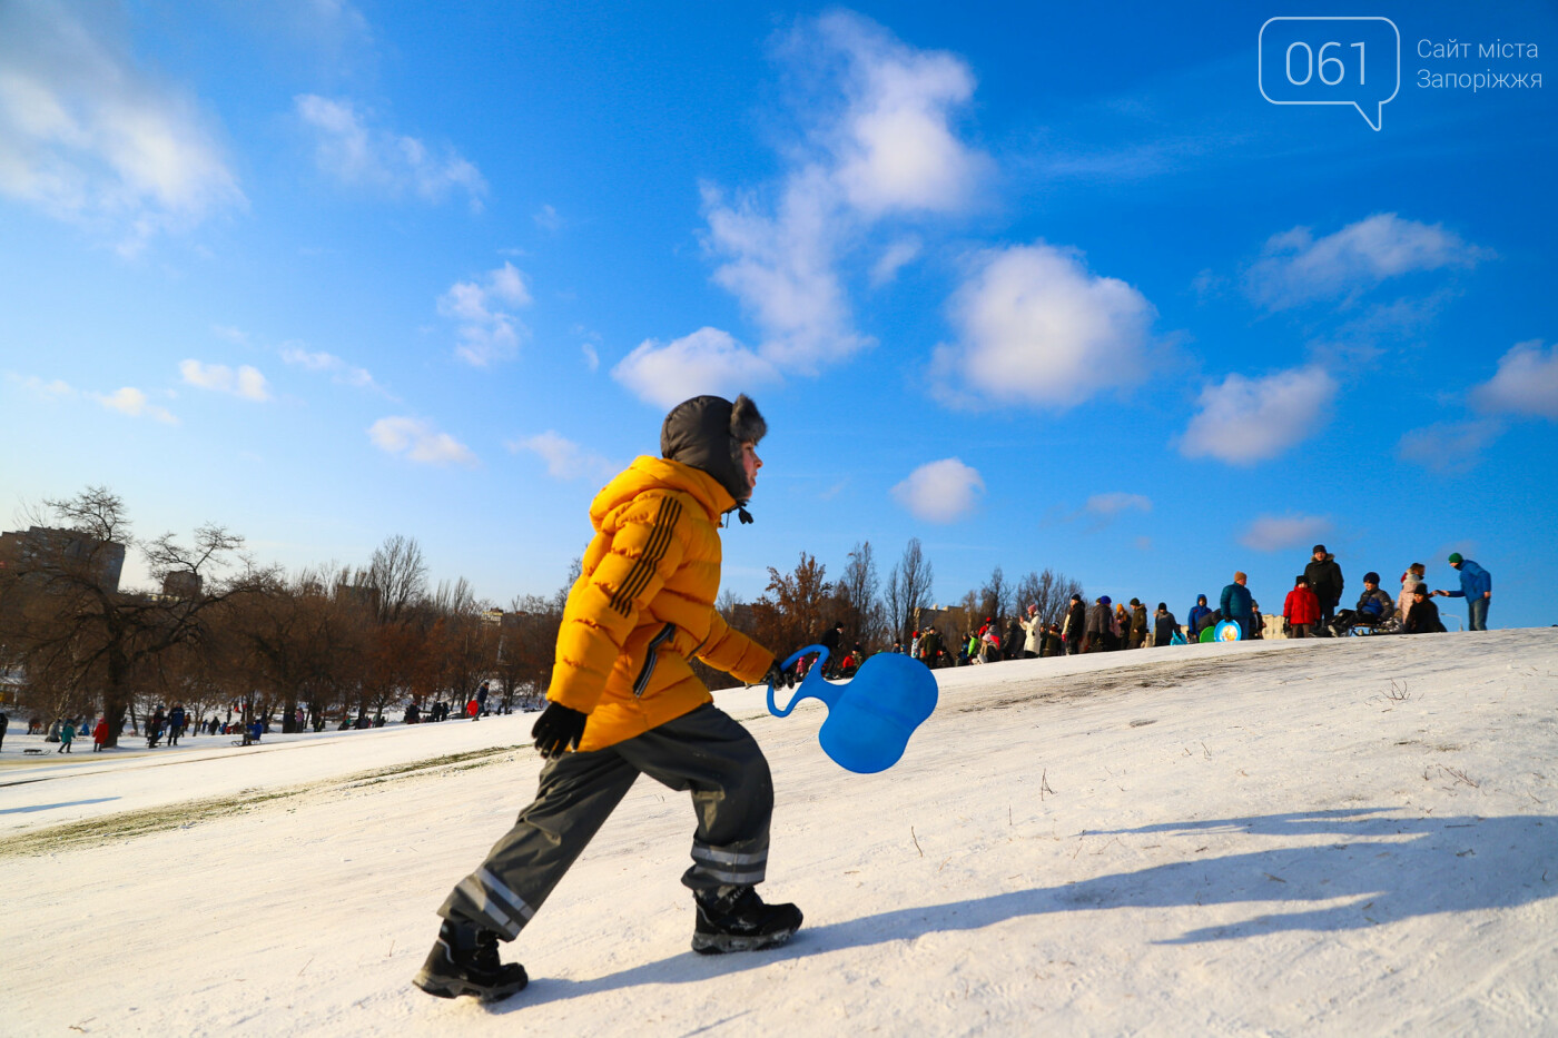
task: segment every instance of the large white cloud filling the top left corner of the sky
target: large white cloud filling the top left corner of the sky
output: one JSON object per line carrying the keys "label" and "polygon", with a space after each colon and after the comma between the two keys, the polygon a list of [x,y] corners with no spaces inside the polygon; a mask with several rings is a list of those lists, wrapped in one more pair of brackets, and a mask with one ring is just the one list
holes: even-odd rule
{"label": "large white cloud filling the top left corner of the sky", "polygon": [[129,36],[98,5],[0,3],[0,195],[100,226],[123,252],[245,204],[210,120]]}

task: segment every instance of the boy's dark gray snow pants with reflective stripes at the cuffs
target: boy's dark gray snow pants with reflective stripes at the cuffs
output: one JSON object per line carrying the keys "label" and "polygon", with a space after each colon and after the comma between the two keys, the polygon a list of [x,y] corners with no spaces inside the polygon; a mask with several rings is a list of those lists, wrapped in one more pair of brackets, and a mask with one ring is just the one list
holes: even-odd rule
{"label": "boy's dark gray snow pants with reflective stripes at the cuffs", "polygon": [[763,881],[774,806],[768,761],[745,728],[706,703],[634,739],[550,761],[534,803],[438,913],[514,940],[639,773],[692,790],[698,828],[682,884],[700,891]]}

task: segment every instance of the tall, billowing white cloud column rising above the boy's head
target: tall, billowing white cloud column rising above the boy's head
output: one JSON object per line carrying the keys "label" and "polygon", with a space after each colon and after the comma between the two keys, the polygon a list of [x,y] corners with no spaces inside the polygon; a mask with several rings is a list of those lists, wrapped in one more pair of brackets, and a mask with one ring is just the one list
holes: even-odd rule
{"label": "tall, billowing white cloud column rising above the boy's head", "polygon": [[[810,376],[871,346],[854,327],[843,254],[890,215],[966,209],[991,168],[952,128],[974,90],[960,58],[908,47],[849,12],[804,22],[785,58],[790,83],[815,95],[790,98],[801,139],[787,151],[785,171],[760,190],[703,189],[714,281],[740,301],[762,341],[738,346],[714,329],[668,346],[647,341],[614,372],[643,399],[675,404],[682,390],[668,387],[707,388],[710,377]],[[876,284],[918,249],[911,238],[890,246],[872,271]],[[695,363],[687,379],[675,377],[679,360]],[[622,377],[640,371],[650,377]]]}

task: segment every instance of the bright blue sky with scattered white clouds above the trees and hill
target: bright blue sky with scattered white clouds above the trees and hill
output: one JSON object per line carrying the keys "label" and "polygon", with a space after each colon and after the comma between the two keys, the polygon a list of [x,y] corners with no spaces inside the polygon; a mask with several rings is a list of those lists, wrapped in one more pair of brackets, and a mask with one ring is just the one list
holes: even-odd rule
{"label": "bright blue sky with scattered white clouds above the trees and hill", "polygon": [[404,533],[503,605],[745,390],[745,598],[918,536],[939,600],[1271,609],[1323,541],[1349,600],[1460,550],[1558,622],[1553,9],[1359,9],[1376,131],[1262,97],[1262,25],[1334,5],[1165,6],[0,6],[0,502]]}

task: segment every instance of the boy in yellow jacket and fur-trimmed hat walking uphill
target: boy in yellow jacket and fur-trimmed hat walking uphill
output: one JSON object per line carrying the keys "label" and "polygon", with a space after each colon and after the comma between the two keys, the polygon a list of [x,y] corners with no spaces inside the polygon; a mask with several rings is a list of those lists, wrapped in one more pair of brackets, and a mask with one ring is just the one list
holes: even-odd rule
{"label": "boy in yellow jacket and fur-trimmed hat walking uphill", "polygon": [[768,862],[773,779],[753,737],[714,706],[696,656],[748,684],[782,681],[771,651],[724,623],[720,517],[753,494],[768,427],[746,396],[678,404],[659,458],[640,457],[590,505],[595,536],[562,609],[536,750],[548,759],[534,803],[450,891],[444,924],[413,983],[428,994],[503,999],[527,983],[502,963],[640,773],[690,790],[698,815],[692,888],[698,952],[754,951],[801,926],[793,904],[753,890]]}

